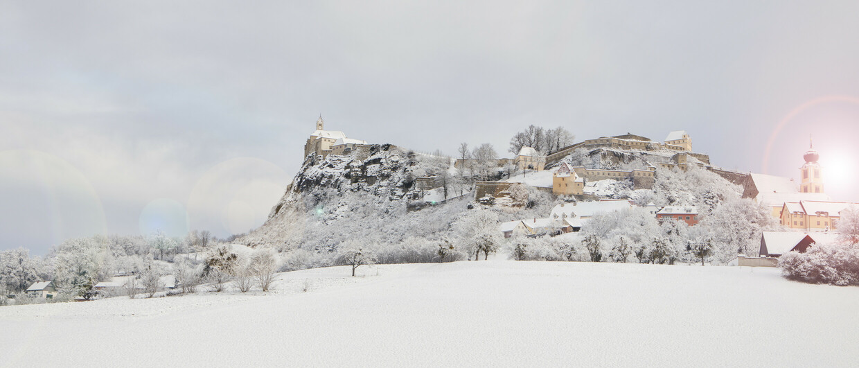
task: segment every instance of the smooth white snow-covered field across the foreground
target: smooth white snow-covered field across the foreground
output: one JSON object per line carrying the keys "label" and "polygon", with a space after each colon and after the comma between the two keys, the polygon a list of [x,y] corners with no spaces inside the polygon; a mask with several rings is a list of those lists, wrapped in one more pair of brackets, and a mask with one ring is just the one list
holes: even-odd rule
{"label": "smooth white snow-covered field across the foreground", "polygon": [[[462,261],[0,308],[0,366],[856,366],[859,288],[776,269]],[[309,291],[303,291],[310,285]]]}

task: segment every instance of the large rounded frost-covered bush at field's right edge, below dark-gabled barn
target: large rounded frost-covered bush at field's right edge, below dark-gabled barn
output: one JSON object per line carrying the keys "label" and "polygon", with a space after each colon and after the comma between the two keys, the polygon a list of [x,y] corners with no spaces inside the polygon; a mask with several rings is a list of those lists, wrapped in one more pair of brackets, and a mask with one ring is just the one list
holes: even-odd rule
{"label": "large rounded frost-covered bush at field's right edge, below dark-gabled barn", "polygon": [[815,284],[859,285],[859,247],[812,244],[806,253],[789,252],[778,259],[789,279]]}

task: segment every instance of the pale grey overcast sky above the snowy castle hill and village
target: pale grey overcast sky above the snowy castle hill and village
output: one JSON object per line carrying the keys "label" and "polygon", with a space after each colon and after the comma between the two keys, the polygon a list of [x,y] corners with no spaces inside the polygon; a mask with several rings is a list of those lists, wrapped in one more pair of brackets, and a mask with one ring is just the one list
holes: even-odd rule
{"label": "pale grey overcast sky above the snowy castle hill and village", "polygon": [[857,14],[856,1],[0,1],[0,249],[247,231],[319,113],[350,138],[451,155],[504,152],[530,124],[577,140],[683,129],[716,165],[789,177],[813,134],[827,193],[859,201]]}

